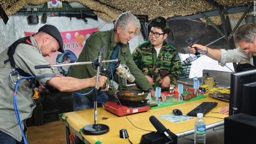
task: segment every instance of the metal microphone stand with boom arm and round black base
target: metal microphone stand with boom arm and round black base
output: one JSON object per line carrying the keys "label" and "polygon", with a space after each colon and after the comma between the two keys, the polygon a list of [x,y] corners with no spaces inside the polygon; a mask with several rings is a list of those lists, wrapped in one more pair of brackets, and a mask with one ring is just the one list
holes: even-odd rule
{"label": "metal microphone stand with boom arm and round black base", "polygon": [[98,77],[100,68],[102,67],[102,63],[108,63],[108,62],[118,62],[120,59],[113,59],[113,60],[106,60],[102,61],[102,53],[104,53],[105,47],[102,46],[99,53],[98,53],[98,59],[95,59],[94,61],[88,61],[88,62],[76,62],[76,63],[68,63],[68,64],[59,64],[59,65],[36,65],[35,69],[42,69],[42,68],[50,68],[50,67],[60,67],[60,66],[68,66],[68,65],[86,65],[91,64],[93,67],[97,68],[96,72],[96,84],[94,89],[94,124],[89,124],[84,126],[82,129],[82,132],[87,135],[101,135],[106,134],[109,132],[109,127],[105,124],[97,124],[97,98],[98,98]]}

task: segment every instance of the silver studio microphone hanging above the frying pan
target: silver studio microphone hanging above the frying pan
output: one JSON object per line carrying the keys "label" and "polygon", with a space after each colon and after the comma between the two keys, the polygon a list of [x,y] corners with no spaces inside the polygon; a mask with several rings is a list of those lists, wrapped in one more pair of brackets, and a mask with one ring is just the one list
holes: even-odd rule
{"label": "silver studio microphone hanging above the frying pan", "polygon": [[131,83],[135,81],[135,77],[130,73],[129,68],[126,65],[121,65],[120,63],[115,65],[116,67],[116,73],[120,77],[126,78]]}

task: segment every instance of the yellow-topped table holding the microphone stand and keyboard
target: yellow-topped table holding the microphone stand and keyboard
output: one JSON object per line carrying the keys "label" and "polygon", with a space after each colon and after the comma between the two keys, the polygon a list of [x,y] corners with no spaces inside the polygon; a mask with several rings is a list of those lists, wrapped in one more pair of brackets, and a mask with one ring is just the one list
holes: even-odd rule
{"label": "yellow-topped table holding the microphone stand and keyboard", "polygon": [[[214,99],[211,97],[206,97],[204,99],[199,99],[196,101],[189,101],[187,103],[180,103],[178,105],[172,105],[168,107],[157,108],[153,110],[149,110],[147,112],[141,112],[136,114],[128,115],[129,120],[137,127],[156,131],[154,126],[150,123],[149,117],[154,115],[156,118],[171,132],[178,136],[186,136],[188,134],[194,133],[194,121],[186,120],[178,123],[170,122],[168,120],[159,118],[159,116],[171,114],[172,110],[175,108],[180,109],[183,114],[187,114],[190,110],[194,109],[202,102],[218,102],[218,105],[208,112],[204,120],[206,121],[206,129],[213,128],[214,126],[224,124],[224,120],[221,118],[225,118],[228,116],[227,114],[219,114],[214,112],[219,112],[222,107],[228,106],[229,103],[225,101],[220,101],[218,99]],[[110,131],[106,134],[92,136],[85,135],[82,133],[82,128],[88,124],[94,124],[94,109],[80,110],[75,112],[67,112],[64,114],[60,114],[60,119],[63,120],[66,124],[66,140],[67,144],[69,144],[68,136],[70,134],[70,130],[76,134],[81,140],[83,140],[86,144],[129,144],[128,139],[122,139],[119,137],[119,130],[126,129],[129,135],[129,139],[132,143],[138,144],[140,143],[140,138],[143,134],[149,133],[145,130],[140,130],[135,128],[125,116],[119,117],[115,114],[112,114],[103,108],[98,108],[98,124],[106,124],[109,126]],[[207,117],[212,116],[212,117]],[[213,118],[217,117],[217,118]]]}

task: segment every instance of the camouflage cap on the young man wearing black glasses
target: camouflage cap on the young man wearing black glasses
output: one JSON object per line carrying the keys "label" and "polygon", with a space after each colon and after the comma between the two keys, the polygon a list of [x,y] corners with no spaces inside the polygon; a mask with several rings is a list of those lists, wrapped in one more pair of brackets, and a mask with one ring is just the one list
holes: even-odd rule
{"label": "camouflage cap on the young man wearing black glasses", "polygon": [[150,32],[152,26],[160,27],[161,29],[165,30],[166,34],[171,31],[165,18],[162,16],[156,17],[148,23],[148,32]]}

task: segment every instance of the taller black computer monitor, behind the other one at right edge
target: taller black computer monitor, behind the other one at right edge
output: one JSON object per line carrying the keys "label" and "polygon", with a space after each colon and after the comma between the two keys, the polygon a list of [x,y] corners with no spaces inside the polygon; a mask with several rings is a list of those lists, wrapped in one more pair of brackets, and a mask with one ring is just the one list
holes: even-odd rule
{"label": "taller black computer monitor, behind the other one at right edge", "polygon": [[[231,74],[229,115],[242,112],[243,88],[245,84],[256,82],[256,69]],[[256,105],[249,103],[247,105]]]}

